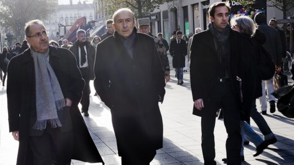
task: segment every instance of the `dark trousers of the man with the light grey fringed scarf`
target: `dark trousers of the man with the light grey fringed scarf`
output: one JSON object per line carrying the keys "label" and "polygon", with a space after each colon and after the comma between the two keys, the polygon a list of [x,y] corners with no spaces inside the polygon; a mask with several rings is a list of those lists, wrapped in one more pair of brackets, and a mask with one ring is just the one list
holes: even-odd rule
{"label": "dark trousers of the man with the light grey fringed scarf", "polygon": [[34,165],[69,165],[73,152],[72,131],[61,133],[48,124],[43,135],[29,136]]}

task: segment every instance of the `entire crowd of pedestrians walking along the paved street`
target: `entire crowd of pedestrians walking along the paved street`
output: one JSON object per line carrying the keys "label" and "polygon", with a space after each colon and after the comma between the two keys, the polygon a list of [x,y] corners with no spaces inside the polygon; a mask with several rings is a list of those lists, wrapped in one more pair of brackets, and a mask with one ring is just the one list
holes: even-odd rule
{"label": "entire crowd of pedestrians walking along the paved street", "polygon": [[[228,133],[223,161],[241,164],[249,142],[256,147],[254,156],[261,154],[277,142],[262,115],[267,115],[267,100],[270,112],[276,110],[273,77],[285,57],[285,33],[275,19],[269,26],[263,12],[254,21],[236,16],[229,23],[230,10],[226,2],[212,4],[207,30],[196,28],[188,36],[174,31],[170,45],[162,33],[150,32],[149,18],[136,21],[127,8],[116,11],[105,22],[107,32],[91,42],[83,29],[73,44],[49,41],[43,22],[27,22],[26,40],[11,50],[4,47],[0,55],[3,87],[8,76],[9,131],[19,141],[17,164],[70,164],[71,159],[104,164],[82,117],[89,116],[90,80],[95,96],[111,109],[122,164],[150,164],[163,146],[158,104],[170,80],[168,53],[177,85],[190,72],[204,163],[216,164],[213,132],[219,109]],[[271,60],[263,61],[266,57]],[[270,64],[273,73],[265,78],[261,67]],[[251,128],[250,117],[264,137]]]}

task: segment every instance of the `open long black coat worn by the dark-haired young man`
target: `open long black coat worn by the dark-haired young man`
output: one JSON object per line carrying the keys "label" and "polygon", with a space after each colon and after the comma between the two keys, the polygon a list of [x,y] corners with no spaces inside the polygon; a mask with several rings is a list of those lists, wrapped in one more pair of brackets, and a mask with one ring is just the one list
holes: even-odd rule
{"label": "open long black coat worn by the dark-haired young man", "polygon": [[[236,76],[242,79],[243,103],[251,105],[253,97],[253,86],[255,81],[251,80],[252,73],[252,43],[248,37],[242,36],[239,32],[231,30],[230,40],[230,77],[232,89],[236,100],[240,103],[240,86]],[[204,101],[211,98],[214,88],[218,83],[218,58],[214,46],[214,40],[209,30],[202,31],[193,36],[190,54],[190,79],[193,101],[202,98]],[[250,88],[251,87],[251,88]],[[247,91],[246,91],[246,90]],[[242,105],[243,106],[243,105]],[[201,116],[203,110],[193,106],[193,114]],[[248,118],[250,109],[242,109],[241,118]]]}

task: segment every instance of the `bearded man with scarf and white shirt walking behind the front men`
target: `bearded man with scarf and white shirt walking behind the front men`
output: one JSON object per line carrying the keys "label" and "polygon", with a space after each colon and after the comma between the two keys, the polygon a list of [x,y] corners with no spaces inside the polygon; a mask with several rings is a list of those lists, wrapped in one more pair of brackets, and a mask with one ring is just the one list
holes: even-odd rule
{"label": "bearded man with scarf and white shirt walking behind the front men", "polygon": [[94,79],[94,60],[95,48],[86,40],[86,31],[80,29],[77,31],[77,42],[69,50],[75,55],[78,67],[81,70],[82,77],[85,80],[85,88],[81,100],[82,113],[89,116],[88,110],[90,105],[90,79]]}

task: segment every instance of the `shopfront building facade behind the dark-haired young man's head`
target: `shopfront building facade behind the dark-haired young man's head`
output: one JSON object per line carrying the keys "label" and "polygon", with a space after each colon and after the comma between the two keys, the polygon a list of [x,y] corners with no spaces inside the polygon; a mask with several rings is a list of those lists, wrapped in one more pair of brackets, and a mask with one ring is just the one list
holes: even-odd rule
{"label": "shopfront building facade behind the dark-haired young man's head", "polygon": [[[160,5],[159,9],[150,14],[151,32],[154,35],[162,32],[164,38],[169,42],[173,31],[180,30],[189,35],[189,33],[194,33],[197,27],[205,30],[209,23],[208,9],[215,2],[220,1],[175,0]],[[267,7],[266,2],[266,0],[256,0],[251,8],[243,8],[239,3],[230,1],[231,16],[242,14],[254,18],[256,13],[263,11],[267,13],[268,21],[273,17],[282,19],[283,13],[274,7]]]}

